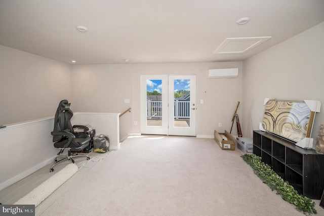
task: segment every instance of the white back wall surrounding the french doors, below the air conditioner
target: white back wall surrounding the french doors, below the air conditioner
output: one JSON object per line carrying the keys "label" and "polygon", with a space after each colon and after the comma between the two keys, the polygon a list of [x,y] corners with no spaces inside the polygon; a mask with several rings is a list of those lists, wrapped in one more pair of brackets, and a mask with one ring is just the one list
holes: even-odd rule
{"label": "white back wall surrounding the french doors, below the air conditioner", "polygon": [[[238,78],[208,79],[208,69],[230,67],[239,68]],[[242,62],[73,65],[73,111],[122,113],[132,107],[120,118],[120,137],[140,133],[140,124],[134,125],[140,122],[140,75],[155,74],[196,75],[197,135],[230,130],[235,105],[242,100]]]}

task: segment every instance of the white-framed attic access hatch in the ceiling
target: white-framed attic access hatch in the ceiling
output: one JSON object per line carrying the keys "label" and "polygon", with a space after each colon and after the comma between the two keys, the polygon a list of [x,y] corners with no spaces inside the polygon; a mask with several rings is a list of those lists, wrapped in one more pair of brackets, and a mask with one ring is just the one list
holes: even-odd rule
{"label": "white-framed attic access hatch in the ceiling", "polygon": [[271,39],[266,37],[226,38],[213,54],[245,53]]}

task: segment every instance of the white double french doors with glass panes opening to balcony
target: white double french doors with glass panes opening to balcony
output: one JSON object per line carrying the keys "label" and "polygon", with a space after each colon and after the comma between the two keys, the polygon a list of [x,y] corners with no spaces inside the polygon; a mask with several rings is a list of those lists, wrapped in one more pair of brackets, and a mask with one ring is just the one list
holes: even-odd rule
{"label": "white double french doors with glass panes opening to balcony", "polygon": [[141,76],[141,133],[196,135],[195,75]]}

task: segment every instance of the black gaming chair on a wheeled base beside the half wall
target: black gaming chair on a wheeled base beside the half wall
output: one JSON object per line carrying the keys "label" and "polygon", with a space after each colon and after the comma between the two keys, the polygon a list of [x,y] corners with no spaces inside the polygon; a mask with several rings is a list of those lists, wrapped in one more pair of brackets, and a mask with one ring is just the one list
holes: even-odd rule
{"label": "black gaming chair on a wheeled base beside the half wall", "polygon": [[[54,147],[59,149],[60,152],[54,160],[54,164],[50,168],[50,172],[54,171],[53,167],[60,161],[71,160],[75,164],[73,157],[84,156],[87,157],[87,160],[90,159],[88,155],[80,154],[78,152],[87,148],[90,145],[91,138],[86,133],[89,130],[88,127],[84,125],[71,125],[71,118],[73,112],[70,110],[70,104],[67,100],[61,100],[54,119],[54,130],[51,132],[53,135]],[[84,133],[75,133],[73,128],[82,128]],[[60,156],[64,150],[68,150],[68,155]],[[61,158],[58,160],[58,158]]]}

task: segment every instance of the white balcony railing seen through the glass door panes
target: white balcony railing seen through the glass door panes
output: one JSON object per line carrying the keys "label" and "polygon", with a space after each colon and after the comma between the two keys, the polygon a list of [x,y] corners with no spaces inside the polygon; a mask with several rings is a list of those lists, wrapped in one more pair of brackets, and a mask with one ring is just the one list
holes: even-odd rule
{"label": "white balcony railing seen through the glass door panes", "polygon": [[[147,102],[147,119],[162,118],[162,101]],[[190,119],[190,101],[174,101],[174,118],[175,119]]]}

